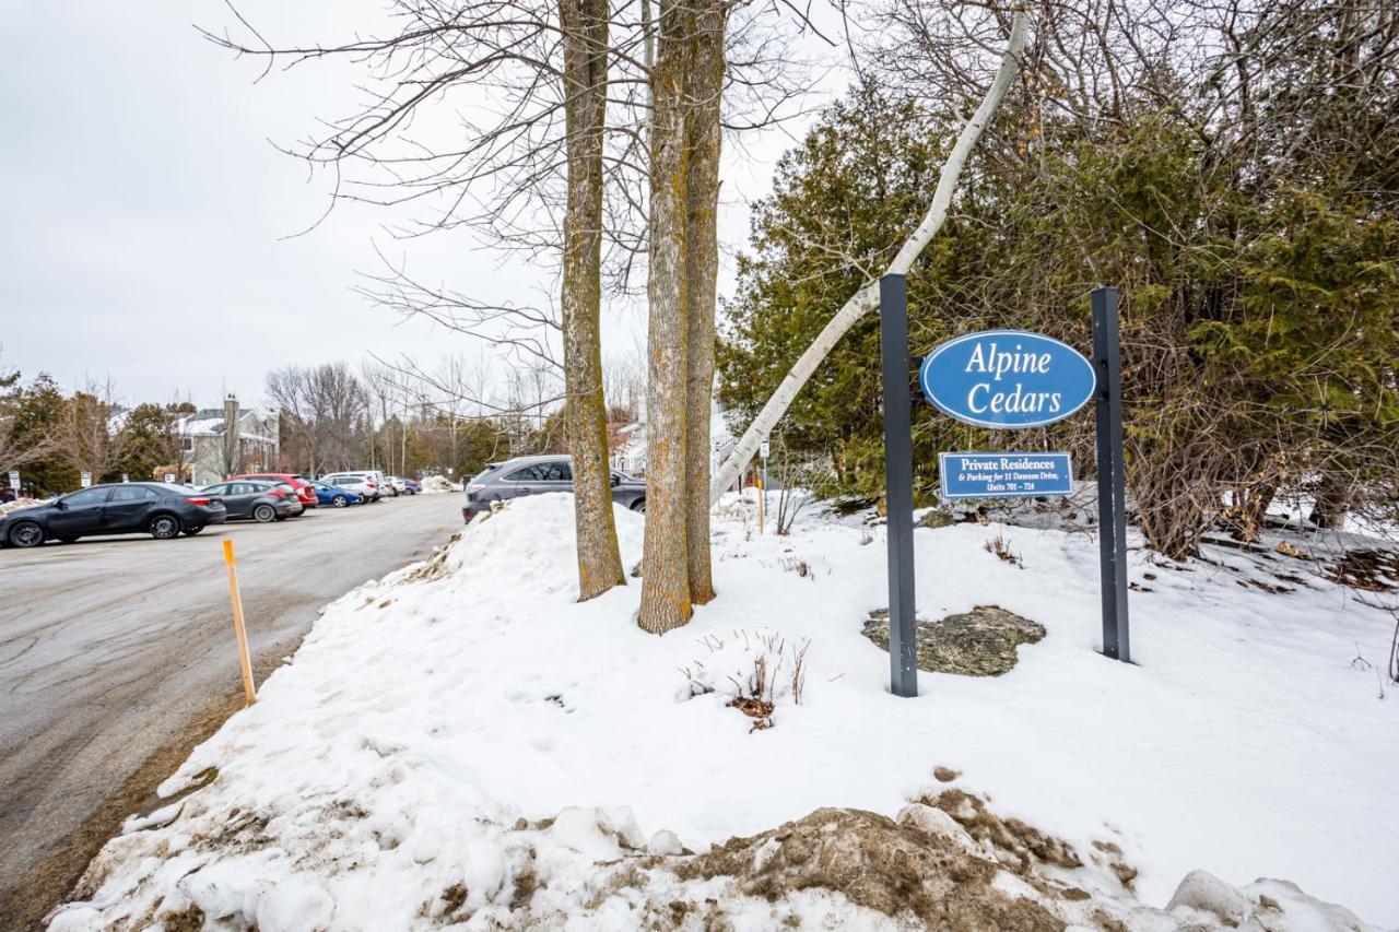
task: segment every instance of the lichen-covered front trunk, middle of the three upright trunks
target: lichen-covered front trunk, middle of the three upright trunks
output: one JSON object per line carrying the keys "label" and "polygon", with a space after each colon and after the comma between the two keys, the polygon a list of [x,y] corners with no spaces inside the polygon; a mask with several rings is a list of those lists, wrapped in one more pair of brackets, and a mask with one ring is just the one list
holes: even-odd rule
{"label": "lichen-covered front trunk, middle of the three upright trunks", "polygon": [[691,616],[686,530],[688,424],[686,309],[686,7],[659,4],[652,70],[651,270],[646,386],[646,539],[637,623],[665,634]]}

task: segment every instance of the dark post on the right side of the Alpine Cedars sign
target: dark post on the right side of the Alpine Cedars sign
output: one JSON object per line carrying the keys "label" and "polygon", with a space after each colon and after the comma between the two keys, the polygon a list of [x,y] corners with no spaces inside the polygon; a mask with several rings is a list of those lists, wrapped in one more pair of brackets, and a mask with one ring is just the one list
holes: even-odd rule
{"label": "dark post on the right side of the Alpine Cedars sign", "polygon": [[1122,357],[1118,290],[1093,290],[1093,365],[1098,372],[1098,558],[1102,572],[1102,654],[1132,662],[1128,640],[1128,521],[1122,466]]}

